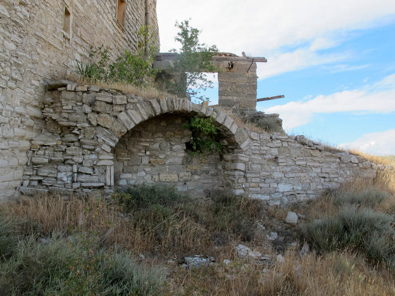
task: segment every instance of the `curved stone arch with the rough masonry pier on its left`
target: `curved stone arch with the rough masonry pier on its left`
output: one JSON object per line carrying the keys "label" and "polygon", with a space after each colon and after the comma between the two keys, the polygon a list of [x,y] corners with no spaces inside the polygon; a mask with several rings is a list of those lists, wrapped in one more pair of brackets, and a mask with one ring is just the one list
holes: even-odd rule
{"label": "curved stone arch with the rough masonry pier on its left", "polygon": [[136,126],[166,114],[211,116],[228,153],[223,164],[228,172],[239,170],[231,151],[246,147],[250,141],[247,129],[207,103],[198,105],[187,99],[164,96],[145,100],[96,86],[67,84],[65,88],[48,87],[42,115],[47,125],[57,127],[48,126],[32,140],[22,192],[90,192],[96,188],[111,192],[117,185],[114,148],[119,140]]}

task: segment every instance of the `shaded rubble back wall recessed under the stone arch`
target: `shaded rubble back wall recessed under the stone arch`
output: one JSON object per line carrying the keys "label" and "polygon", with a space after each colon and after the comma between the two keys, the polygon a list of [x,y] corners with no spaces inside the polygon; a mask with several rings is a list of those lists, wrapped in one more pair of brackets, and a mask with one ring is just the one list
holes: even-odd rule
{"label": "shaded rubble back wall recessed under the stone arch", "polygon": [[191,155],[191,131],[183,127],[186,122],[186,117],[161,115],[123,135],[113,149],[115,185],[174,185],[196,197],[224,188],[219,152],[204,157]]}

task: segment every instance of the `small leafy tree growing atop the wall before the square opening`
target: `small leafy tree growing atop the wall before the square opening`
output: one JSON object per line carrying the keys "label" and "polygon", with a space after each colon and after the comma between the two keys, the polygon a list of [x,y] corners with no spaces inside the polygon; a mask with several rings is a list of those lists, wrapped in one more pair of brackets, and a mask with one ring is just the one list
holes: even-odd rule
{"label": "small leafy tree growing atop the wall before the square opening", "polygon": [[216,71],[211,60],[218,52],[217,46],[199,43],[200,31],[191,27],[189,20],[176,22],[175,27],[180,31],[174,39],[181,43],[181,47],[178,50],[170,50],[178,55],[170,69],[174,77],[172,81],[167,81],[167,90],[178,97],[208,101],[208,98],[199,95],[199,92],[213,87],[213,82],[208,79],[205,72]]}

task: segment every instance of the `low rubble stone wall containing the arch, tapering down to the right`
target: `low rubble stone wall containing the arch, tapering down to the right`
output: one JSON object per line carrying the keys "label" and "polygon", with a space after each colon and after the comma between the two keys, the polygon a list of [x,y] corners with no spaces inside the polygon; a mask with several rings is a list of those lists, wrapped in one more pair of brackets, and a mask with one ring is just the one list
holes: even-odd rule
{"label": "low rubble stone wall containing the arch, tapering down to the right", "polygon": [[[54,83],[50,85],[57,85]],[[94,85],[68,83],[44,97],[44,132],[32,140],[25,193],[92,192],[136,183],[162,183],[195,196],[226,188],[269,203],[314,198],[376,166],[348,152],[329,152],[303,136],[256,133],[220,108],[187,99],[146,99]],[[191,157],[190,116],[211,116],[221,154]]]}

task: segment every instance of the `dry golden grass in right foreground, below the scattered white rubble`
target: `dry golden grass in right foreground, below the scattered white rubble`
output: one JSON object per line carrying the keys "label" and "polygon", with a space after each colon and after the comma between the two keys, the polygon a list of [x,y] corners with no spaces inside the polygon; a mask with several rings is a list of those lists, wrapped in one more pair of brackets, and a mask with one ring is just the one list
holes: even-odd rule
{"label": "dry golden grass in right foreground, below the scattered white rubble", "polygon": [[[240,261],[222,268],[200,268],[171,274],[166,295],[215,296],[365,296],[394,295],[394,273],[372,268],[347,253],[300,256],[288,251],[285,262],[263,271],[262,265]],[[269,266],[265,266],[269,267]]]}

